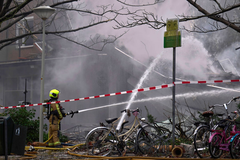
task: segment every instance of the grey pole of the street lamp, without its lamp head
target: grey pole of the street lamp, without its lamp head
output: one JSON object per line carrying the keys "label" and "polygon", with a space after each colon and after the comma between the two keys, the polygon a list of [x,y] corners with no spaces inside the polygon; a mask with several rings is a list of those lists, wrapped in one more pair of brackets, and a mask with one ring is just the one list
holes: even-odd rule
{"label": "grey pole of the street lamp, without its lamp head", "polygon": [[[44,61],[45,61],[45,20],[43,20],[43,44],[42,44],[42,68],[41,68],[41,95],[40,102],[43,103],[44,96]],[[43,106],[40,106],[39,142],[43,142]]]}

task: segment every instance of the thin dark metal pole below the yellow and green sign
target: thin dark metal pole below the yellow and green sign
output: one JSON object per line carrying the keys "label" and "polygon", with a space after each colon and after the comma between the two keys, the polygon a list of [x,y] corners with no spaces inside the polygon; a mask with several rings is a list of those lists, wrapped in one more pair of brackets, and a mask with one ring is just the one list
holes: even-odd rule
{"label": "thin dark metal pole below the yellow and green sign", "polygon": [[[175,82],[176,73],[176,47],[173,47],[173,83]],[[175,84],[172,88],[172,145],[175,145]]]}

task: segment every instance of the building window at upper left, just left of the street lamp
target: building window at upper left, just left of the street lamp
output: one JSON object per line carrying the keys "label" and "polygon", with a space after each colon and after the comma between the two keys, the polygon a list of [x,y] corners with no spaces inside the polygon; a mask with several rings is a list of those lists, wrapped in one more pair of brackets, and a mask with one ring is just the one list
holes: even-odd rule
{"label": "building window at upper left, just left of the street lamp", "polygon": [[[16,23],[16,36],[20,36],[23,34],[27,34],[33,31],[33,16],[26,17]],[[32,35],[23,37],[22,39],[17,40],[17,48],[20,46],[24,47],[32,47],[33,46],[33,37]]]}

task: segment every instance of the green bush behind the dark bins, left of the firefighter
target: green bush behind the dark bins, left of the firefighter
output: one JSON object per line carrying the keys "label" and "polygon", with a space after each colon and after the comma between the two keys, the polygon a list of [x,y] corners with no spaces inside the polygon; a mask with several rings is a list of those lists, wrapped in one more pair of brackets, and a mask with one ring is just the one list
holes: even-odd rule
{"label": "green bush behind the dark bins, left of the firefighter", "polygon": [[[39,140],[39,117],[34,119],[35,112],[35,109],[15,108],[5,110],[1,115],[9,115],[15,124],[27,127],[26,142],[37,142]],[[47,131],[46,124],[44,124],[43,130]]]}

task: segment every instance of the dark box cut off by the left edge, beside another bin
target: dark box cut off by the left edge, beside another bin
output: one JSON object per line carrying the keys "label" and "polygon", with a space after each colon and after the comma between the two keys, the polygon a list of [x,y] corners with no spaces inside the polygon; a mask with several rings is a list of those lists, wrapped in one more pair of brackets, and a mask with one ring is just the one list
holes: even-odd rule
{"label": "dark box cut off by the left edge, beside another bin", "polygon": [[[0,116],[0,155],[9,155],[12,147],[14,122],[10,116]],[[5,148],[7,151],[5,152]]]}

